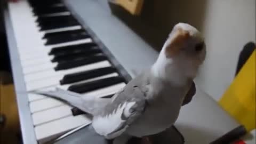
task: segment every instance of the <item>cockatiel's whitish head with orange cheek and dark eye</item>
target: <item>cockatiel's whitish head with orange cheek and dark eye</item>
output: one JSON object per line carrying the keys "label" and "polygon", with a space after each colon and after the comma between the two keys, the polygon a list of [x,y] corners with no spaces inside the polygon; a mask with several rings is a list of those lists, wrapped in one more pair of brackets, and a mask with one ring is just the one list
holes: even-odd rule
{"label": "cockatiel's whitish head with orange cheek and dark eye", "polygon": [[193,65],[201,65],[205,59],[205,43],[201,33],[187,23],[175,25],[164,44],[166,58],[182,60]]}

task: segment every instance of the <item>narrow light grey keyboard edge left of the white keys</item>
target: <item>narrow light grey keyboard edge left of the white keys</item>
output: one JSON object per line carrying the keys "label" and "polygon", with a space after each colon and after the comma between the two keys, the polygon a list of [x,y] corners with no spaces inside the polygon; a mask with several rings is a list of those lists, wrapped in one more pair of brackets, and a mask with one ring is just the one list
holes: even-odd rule
{"label": "narrow light grey keyboard edge left of the white keys", "polygon": [[[30,110],[27,105],[27,92],[25,87],[25,81],[22,74],[19,52],[17,48],[17,39],[15,38],[13,22],[11,20],[10,5],[8,8],[9,9],[6,9],[4,11],[5,28],[7,35],[7,43],[9,45],[10,51],[13,81],[15,84],[15,92],[17,97],[18,112],[20,117],[19,120],[22,131],[22,141],[23,143],[35,144],[37,143],[37,140],[34,132],[34,125],[31,118]],[[16,10],[18,10],[18,8]]]}

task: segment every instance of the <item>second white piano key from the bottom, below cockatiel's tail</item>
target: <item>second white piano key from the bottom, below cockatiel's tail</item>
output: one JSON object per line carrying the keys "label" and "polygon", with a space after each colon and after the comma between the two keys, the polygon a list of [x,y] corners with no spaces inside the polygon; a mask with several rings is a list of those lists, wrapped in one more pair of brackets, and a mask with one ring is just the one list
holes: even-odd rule
{"label": "second white piano key from the bottom, below cockatiel's tail", "polygon": [[56,119],[70,116],[72,115],[72,112],[71,112],[72,108],[73,107],[63,105],[63,106],[39,111],[37,113],[33,113],[32,114],[33,123],[35,126],[37,126],[42,123],[46,123],[46,122],[54,121]]}

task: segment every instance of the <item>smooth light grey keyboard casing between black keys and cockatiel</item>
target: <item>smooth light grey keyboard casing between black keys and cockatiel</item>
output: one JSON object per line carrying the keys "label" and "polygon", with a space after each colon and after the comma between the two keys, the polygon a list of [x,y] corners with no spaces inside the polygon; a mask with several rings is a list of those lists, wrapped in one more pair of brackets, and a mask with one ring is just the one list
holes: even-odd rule
{"label": "smooth light grey keyboard casing between black keys and cockatiel", "polygon": [[132,77],[150,68],[157,59],[158,52],[153,47],[113,14],[106,12],[105,9],[99,9],[101,7],[99,3],[82,0],[64,2],[78,21],[97,35],[97,39],[108,47],[108,50]]}

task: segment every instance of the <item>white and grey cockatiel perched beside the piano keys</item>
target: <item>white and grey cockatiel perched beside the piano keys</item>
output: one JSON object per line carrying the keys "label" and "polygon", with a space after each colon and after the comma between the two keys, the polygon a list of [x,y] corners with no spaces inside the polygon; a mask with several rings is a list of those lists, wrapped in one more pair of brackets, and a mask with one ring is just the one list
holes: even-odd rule
{"label": "white and grey cockatiel perched beside the piano keys", "polygon": [[111,99],[81,97],[57,89],[38,92],[67,101],[93,116],[97,133],[114,143],[165,131],[179,116],[182,103],[205,59],[201,33],[187,23],[174,26],[154,65],[133,78]]}

